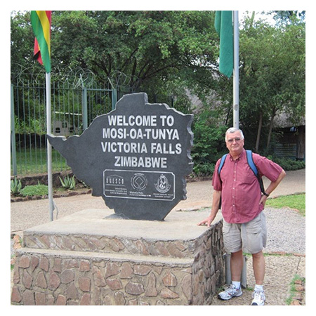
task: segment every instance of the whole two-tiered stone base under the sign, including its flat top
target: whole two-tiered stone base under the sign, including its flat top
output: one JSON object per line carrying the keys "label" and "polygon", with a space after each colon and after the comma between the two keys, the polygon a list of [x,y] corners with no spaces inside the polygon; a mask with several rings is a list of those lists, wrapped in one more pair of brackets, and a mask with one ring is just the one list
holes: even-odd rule
{"label": "whole two-tiered stone base under the sign, including its flat top", "polygon": [[225,282],[221,216],[171,211],[164,221],[89,209],[23,232],[16,305],[209,305]]}

